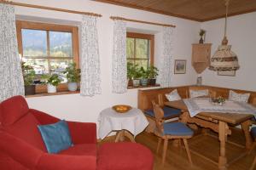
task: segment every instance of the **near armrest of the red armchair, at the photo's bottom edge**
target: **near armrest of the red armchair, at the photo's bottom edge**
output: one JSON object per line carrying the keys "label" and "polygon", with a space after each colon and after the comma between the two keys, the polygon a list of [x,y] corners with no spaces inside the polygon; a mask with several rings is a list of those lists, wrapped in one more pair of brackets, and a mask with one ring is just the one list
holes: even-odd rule
{"label": "near armrest of the red armchair, at the photo's bottom edge", "polygon": [[96,156],[67,156],[45,153],[38,161],[37,170],[96,170]]}

